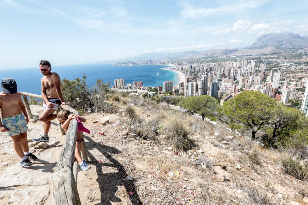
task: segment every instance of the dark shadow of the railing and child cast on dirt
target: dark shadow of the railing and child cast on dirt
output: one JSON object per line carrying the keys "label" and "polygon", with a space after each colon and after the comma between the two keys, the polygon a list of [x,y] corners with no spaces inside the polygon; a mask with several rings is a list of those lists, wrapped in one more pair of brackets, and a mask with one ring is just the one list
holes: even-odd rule
{"label": "dark shadow of the railing and child cast on dirt", "polygon": [[[128,198],[131,200],[131,203],[133,205],[143,204],[140,200],[140,197],[134,185],[134,182],[136,182],[136,180],[135,179],[126,180],[126,177],[128,175],[125,168],[123,167],[122,164],[120,164],[117,160],[115,160],[111,156],[111,153],[119,154],[120,151],[116,148],[107,145],[98,144],[88,136],[84,135],[84,138],[88,140],[88,142],[86,142],[87,150],[95,148],[99,152],[101,152],[103,156],[107,158],[107,160],[111,162],[111,163],[97,162],[95,157],[91,155],[90,152],[87,152],[89,159],[92,161],[91,164],[95,165],[96,173],[98,176],[96,181],[99,184],[101,202],[97,203],[97,205],[98,204],[111,205],[111,202],[122,202],[120,198],[115,196],[115,193],[118,190],[117,186],[125,187],[127,195],[129,196]],[[102,169],[104,166],[114,167],[115,172],[104,174]]]}

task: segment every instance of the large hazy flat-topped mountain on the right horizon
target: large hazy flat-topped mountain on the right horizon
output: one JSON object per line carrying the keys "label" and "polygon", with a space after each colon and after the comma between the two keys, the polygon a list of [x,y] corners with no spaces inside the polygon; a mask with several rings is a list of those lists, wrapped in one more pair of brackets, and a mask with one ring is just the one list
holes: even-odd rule
{"label": "large hazy flat-topped mountain on the right horizon", "polygon": [[294,33],[264,34],[245,49],[262,49],[272,46],[277,49],[302,49],[308,47],[308,37]]}

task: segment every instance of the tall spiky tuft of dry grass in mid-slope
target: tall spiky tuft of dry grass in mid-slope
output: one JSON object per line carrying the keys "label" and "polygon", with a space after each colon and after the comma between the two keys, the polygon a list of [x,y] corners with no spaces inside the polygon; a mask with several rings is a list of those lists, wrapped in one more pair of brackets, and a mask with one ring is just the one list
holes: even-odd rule
{"label": "tall spiky tuft of dry grass in mid-slope", "polygon": [[180,116],[171,115],[166,121],[162,130],[165,135],[164,140],[178,151],[187,152],[195,146],[192,139],[189,138],[188,128],[185,126],[184,120]]}

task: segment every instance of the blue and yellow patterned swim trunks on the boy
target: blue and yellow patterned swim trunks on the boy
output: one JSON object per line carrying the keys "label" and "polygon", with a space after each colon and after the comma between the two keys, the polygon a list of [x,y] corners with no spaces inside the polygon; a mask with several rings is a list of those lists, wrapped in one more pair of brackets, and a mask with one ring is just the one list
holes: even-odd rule
{"label": "blue and yellow patterned swim trunks on the boy", "polygon": [[19,135],[28,130],[26,118],[22,113],[12,117],[3,117],[2,123],[8,129],[9,136]]}

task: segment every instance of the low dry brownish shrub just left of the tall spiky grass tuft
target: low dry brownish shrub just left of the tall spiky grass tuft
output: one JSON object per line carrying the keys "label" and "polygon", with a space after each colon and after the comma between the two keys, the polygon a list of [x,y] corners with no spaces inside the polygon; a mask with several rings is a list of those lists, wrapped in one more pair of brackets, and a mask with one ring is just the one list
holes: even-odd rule
{"label": "low dry brownish shrub just left of the tall spiky grass tuft", "polygon": [[157,128],[159,128],[159,120],[149,120],[148,122],[144,118],[137,118],[129,123],[132,125],[132,132],[136,133],[138,137],[145,140],[156,140],[158,135]]}

